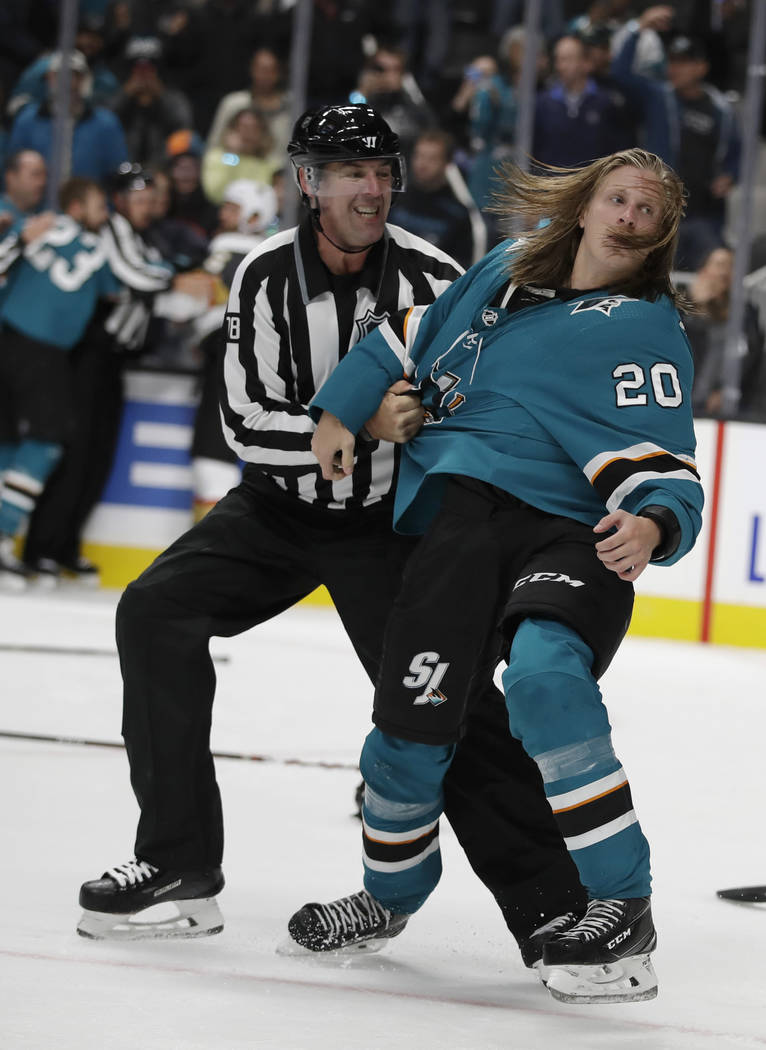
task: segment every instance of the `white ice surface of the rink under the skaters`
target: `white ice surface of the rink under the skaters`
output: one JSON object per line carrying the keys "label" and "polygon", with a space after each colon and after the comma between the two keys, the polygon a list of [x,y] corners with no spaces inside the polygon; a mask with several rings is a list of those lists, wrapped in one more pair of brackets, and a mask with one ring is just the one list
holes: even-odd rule
{"label": "white ice surface of the rink under the skaters", "polygon": [[[0,730],[120,740],[115,595],[0,596]],[[361,885],[353,766],[370,691],[326,609],[214,651],[227,826],[224,932],[105,944],[75,933],[78,887],[131,855],[122,751],[0,738],[2,1050],[735,1050],[766,1047],[766,651],[629,638],[604,679],[653,848],[652,1003],[554,1002],[443,828],[445,874],[385,951],[276,953],[306,900]],[[326,769],[286,759],[346,763]],[[273,759],[273,760],[272,760]]]}

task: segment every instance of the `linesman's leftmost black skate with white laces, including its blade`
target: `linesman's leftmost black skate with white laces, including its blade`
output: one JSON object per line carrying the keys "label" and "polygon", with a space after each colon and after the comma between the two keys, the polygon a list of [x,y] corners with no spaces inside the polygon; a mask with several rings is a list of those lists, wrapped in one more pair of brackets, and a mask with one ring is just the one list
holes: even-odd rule
{"label": "linesman's leftmost black skate with white laces, including its blade", "polygon": [[[207,937],[219,933],[224,917],[215,895],[224,888],[219,867],[205,872],[161,872],[143,860],[130,860],[80,887],[85,910],[78,933],[97,940]],[[175,915],[135,917],[155,905],[171,905]],[[167,911],[168,909],[166,909]]]}

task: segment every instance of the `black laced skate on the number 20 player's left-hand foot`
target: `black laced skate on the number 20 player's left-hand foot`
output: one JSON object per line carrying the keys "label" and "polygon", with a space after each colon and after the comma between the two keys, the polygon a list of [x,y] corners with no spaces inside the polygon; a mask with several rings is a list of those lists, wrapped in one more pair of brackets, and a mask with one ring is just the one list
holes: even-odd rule
{"label": "black laced skate on the number 20 player's left-hand foot", "polygon": [[304,904],[288,923],[296,944],[310,951],[379,951],[398,937],[409,916],[384,908],[366,889],[329,904]]}

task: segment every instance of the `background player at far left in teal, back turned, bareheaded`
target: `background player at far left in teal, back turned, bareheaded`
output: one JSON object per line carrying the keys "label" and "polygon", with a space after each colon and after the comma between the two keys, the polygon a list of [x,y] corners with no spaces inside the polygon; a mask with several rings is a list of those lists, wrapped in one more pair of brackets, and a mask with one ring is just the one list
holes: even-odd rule
{"label": "background player at far left in teal, back turned, bareheaded", "polygon": [[[107,218],[100,185],[70,178],[60,202],[63,214],[40,235],[28,236],[38,216],[3,242],[3,264],[17,270],[13,295],[0,310],[0,388],[9,414],[0,443],[0,586],[9,590],[26,586],[15,537],[72,428],[67,352],[82,337],[99,298],[120,291],[98,236]],[[14,238],[15,246],[8,245]]]}

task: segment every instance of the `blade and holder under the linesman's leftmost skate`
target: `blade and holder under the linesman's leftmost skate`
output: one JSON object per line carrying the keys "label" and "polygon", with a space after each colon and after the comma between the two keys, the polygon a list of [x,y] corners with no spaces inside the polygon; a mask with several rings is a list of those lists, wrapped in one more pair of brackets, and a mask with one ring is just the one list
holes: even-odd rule
{"label": "blade and holder under the linesman's leftmost skate", "polygon": [[[162,919],[136,919],[135,915],[86,910],[78,923],[77,931],[80,937],[91,941],[157,941],[212,937],[224,929],[224,916],[213,897],[207,900],[173,901],[172,904],[177,909],[177,915]],[[139,915],[144,916],[146,912]]]}

